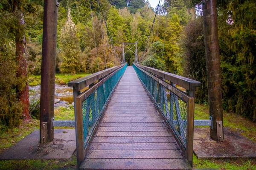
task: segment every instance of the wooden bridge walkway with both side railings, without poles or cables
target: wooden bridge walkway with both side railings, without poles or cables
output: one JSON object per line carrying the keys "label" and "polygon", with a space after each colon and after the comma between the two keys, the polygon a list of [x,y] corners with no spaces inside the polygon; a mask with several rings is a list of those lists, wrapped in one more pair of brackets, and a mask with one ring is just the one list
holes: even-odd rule
{"label": "wooden bridge walkway with both side railings, without poles or cables", "polygon": [[80,168],[191,168],[200,82],[125,62],[68,85],[74,89]]}

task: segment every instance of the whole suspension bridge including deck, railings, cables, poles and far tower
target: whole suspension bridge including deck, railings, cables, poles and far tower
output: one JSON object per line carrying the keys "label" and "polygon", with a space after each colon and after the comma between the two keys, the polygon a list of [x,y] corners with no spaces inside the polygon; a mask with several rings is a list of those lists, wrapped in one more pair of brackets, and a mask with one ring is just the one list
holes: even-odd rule
{"label": "whole suspension bridge including deck, railings, cables, poles and far tower", "polygon": [[[47,6],[44,9],[44,31],[47,34],[43,34],[41,96],[44,97],[41,97],[41,108],[44,110],[41,110],[40,116],[41,143],[53,140],[53,127],[75,126],[77,165],[81,169],[191,169],[194,126],[210,126],[211,138],[223,140],[222,115],[209,116],[209,120],[194,120],[195,87],[200,82],[161,71],[162,65],[160,70],[155,69],[154,65],[153,68],[140,65],[147,50],[160,0],[140,61],[137,54],[138,42],[123,42],[122,59],[119,60],[98,0],[99,14],[102,13],[110,40],[106,44],[108,54],[114,53],[120,63],[107,68],[102,32],[106,65],[102,71],[99,70],[93,12],[89,0],[98,72],[68,83],[68,86],[73,87],[75,121],[55,121],[52,102],[54,83],[49,83],[55,79],[55,64],[49,58],[54,58],[56,54],[55,11],[58,11],[58,1],[45,1],[48,3],[45,3]],[[211,6],[207,3],[207,8],[212,10]],[[48,20],[51,18],[48,16],[53,16],[54,20]],[[99,19],[102,23],[100,15]],[[208,23],[209,28],[211,24]],[[214,44],[215,41],[212,42]],[[216,47],[211,48],[212,44],[206,44],[209,55],[213,55],[210,52]],[[130,48],[129,45],[135,46],[135,52],[132,51],[134,46]],[[132,66],[125,62],[126,48],[134,53]]]}

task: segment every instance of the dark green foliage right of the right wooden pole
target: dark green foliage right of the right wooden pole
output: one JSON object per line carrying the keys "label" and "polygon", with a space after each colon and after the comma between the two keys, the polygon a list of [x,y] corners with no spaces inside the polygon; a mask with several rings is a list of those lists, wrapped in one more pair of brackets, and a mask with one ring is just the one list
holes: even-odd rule
{"label": "dark green foliage right of the right wooden pole", "polygon": [[219,12],[224,108],[256,120],[256,1],[230,1]]}

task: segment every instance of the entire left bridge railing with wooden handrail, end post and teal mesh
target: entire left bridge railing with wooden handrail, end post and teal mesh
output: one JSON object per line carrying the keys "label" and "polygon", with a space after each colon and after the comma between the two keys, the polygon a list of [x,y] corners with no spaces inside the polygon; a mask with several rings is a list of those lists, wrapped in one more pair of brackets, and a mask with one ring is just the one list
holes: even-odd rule
{"label": "entire left bridge railing with wooden handrail, end post and teal mesh", "polygon": [[[69,82],[69,86],[73,86],[75,103],[78,167],[84,160],[94,129],[126,67],[127,63],[124,63]],[[89,89],[81,93],[86,87]]]}

